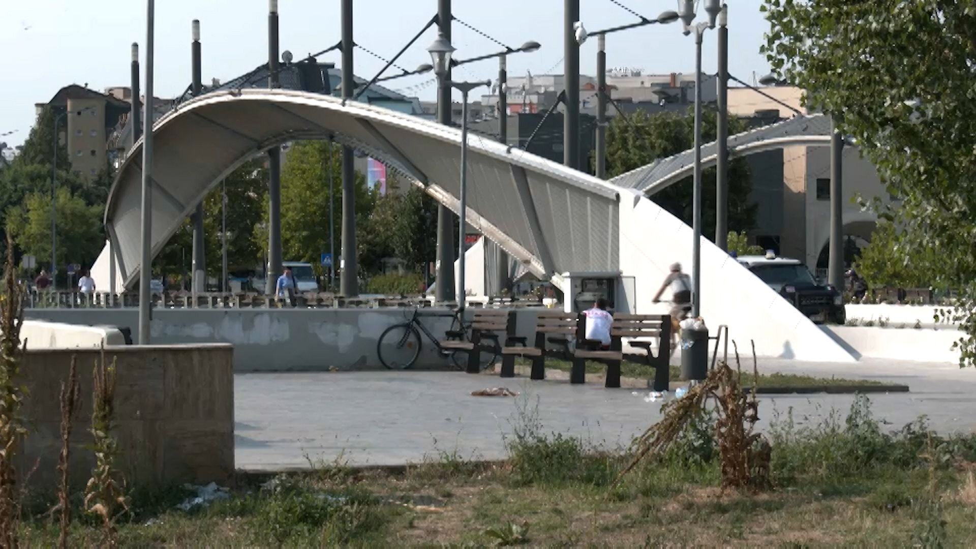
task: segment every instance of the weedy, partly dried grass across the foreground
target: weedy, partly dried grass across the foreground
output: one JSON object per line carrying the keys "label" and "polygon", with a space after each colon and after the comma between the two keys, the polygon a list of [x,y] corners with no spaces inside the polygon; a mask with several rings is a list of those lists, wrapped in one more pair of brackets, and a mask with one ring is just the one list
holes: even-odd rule
{"label": "weedy, partly dried grass across the foreground", "polygon": [[[226,500],[179,511],[179,488],[134,490],[120,546],[976,546],[976,436],[940,437],[921,419],[881,428],[870,401],[797,427],[768,430],[774,489],[720,490],[714,419],[702,413],[676,442],[614,485],[622,451],[542,431],[523,399],[508,459],[475,463],[445,451],[398,471],[320,466],[242,480]],[[40,515],[25,546],[51,546]],[[71,546],[97,545],[76,522]]]}

